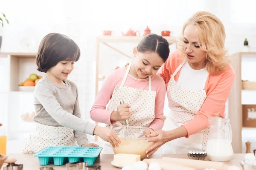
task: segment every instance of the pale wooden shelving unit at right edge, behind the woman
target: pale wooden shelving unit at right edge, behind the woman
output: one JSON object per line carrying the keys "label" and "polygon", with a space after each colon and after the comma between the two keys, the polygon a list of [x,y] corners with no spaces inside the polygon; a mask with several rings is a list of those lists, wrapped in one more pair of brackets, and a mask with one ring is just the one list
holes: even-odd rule
{"label": "pale wooden shelving unit at right edge, behind the woman", "polygon": [[[256,104],[256,99],[251,100],[247,99],[248,96],[255,96],[256,91],[247,91],[242,90],[242,68],[243,70],[246,69],[242,67],[242,60],[244,59],[251,59],[255,60],[254,58],[250,59],[250,55],[252,57],[256,56],[256,52],[239,52],[236,54],[233,54],[230,56],[231,65],[233,66],[235,70],[235,80],[232,86],[232,89],[230,91],[230,96],[228,99],[228,115],[230,119],[230,124],[232,126],[232,133],[233,135],[233,141],[232,146],[234,153],[241,153],[242,152],[242,105],[250,105],[250,104]],[[243,65],[244,66],[244,65]]]}

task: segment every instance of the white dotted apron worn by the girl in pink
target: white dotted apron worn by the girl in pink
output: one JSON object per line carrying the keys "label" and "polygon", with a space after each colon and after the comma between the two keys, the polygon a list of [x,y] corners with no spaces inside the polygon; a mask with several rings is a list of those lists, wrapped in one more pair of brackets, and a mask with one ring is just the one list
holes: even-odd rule
{"label": "white dotted apron worn by the girl in pink", "polygon": [[[133,133],[143,133],[155,118],[154,108],[156,92],[151,90],[150,76],[148,77],[148,90],[124,86],[130,68],[131,64],[128,65],[122,83],[115,87],[107,110],[116,111],[117,106],[120,105],[119,99],[122,98],[125,103],[131,106],[131,108],[129,108],[131,117],[128,119],[131,130]],[[110,127],[116,133],[124,133],[127,128],[125,121],[116,122],[116,125],[107,125],[107,127]],[[109,142],[105,142],[102,153],[114,153],[112,145]]]}

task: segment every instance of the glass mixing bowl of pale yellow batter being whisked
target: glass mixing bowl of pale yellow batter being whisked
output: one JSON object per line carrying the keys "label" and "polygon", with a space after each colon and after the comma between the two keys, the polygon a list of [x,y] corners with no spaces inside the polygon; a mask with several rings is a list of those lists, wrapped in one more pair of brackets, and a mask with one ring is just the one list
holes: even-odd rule
{"label": "glass mixing bowl of pale yellow batter being whisked", "polygon": [[127,153],[140,155],[140,159],[143,160],[146,157],[146,150],[150,147],[153,142],[148,142],[146,136],[143,133],[134,133],[135,138],[125,138],[123,133],[116,134],[121,143],[119,147],[112,147],[115,154]]}

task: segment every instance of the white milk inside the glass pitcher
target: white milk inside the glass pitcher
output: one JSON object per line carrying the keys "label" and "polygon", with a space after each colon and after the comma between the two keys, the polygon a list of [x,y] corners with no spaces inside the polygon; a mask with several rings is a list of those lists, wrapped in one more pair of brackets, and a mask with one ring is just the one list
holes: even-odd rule
{"label": "white milk inside the glass pitcher", "polygon": [[234,154],[231,142],[227,139],[208,140],[206,152],[211,161],[229,161]]}

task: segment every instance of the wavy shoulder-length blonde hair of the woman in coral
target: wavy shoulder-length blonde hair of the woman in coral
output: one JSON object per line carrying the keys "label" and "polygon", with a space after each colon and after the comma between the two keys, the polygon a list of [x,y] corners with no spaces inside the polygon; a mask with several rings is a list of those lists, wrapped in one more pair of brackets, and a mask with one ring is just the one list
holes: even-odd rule
{"label": "wavy shoulder-length blonde hair of the woman in coral", "polygon": [[224,47],[225,29],[221,20],[215,15],[206,12],[196,12],[183,26],[182,34],[178,42],[178,48],[184,54],[183,61],[187,60],[185,49],[183,47],[184,30],[186,26],[192,24],[195,26],[199,38],[199,46],[207,52],[205,68],[211,75],[219,74],[224,71],[230,63],[227,58],[227,50]]}

